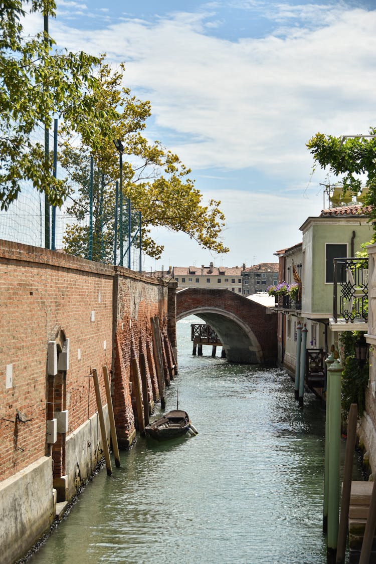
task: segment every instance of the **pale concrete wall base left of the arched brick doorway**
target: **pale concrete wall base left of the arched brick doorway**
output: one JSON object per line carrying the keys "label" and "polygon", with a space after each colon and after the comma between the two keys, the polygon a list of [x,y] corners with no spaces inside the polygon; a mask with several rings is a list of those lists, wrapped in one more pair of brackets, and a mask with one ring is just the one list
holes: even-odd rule
{"label": "pale concrete wall base left of the arched brick doorway", "polygon": [[56,497],[49,456],[0,482],[1,562],[21,558],[54,521]]}

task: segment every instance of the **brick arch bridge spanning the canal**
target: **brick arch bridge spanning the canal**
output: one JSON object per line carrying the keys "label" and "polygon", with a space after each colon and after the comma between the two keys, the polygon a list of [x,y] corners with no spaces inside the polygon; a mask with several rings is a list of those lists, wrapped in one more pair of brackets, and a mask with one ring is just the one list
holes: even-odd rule
{"label": "brick arch bridge spanning the canal", "polygon": [[225,289],[176,293],[176,321],[197,315],[218,334],[229,362],[276,364],[277,314]]}

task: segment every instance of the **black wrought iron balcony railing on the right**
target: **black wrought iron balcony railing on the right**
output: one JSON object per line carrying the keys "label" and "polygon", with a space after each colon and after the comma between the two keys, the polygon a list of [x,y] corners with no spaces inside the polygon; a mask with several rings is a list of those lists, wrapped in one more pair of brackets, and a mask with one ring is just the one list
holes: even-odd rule
{"label": "black wrought iron balcony railing on the right", "polygon": [[346,323],[368,321],[368,257],[335,258],[333,318]]}

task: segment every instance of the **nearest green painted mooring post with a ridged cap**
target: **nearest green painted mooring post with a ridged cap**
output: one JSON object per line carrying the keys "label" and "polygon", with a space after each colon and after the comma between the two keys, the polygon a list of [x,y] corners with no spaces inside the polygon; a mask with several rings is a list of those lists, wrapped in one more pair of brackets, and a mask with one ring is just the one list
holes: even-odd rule
{"label": "nearest green painted mooring post with a ridged cap", "polygon": [[[328,461],[328,555],[337,551],[340,464],[340,387],[342,364],[335,360],[328,368],[329,461]],[[327,398],[328,401],[328,398]]]}

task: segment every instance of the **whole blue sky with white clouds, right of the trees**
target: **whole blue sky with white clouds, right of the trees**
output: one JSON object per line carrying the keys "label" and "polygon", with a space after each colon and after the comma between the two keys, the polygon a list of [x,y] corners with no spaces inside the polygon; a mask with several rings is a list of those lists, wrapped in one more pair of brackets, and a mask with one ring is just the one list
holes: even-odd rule
{"label": "whole blue sky with white clouds, right of the trees", "polygon": [[222,202],[229,253],[160,228],[146,270],[276,262],[302,240],[336,181],[313,171],[308,139],[376,125],[375,30],[375,0],[57,0],[57,45],[124,61],[125,85],[151,101],[148,138],[192,169],[204,203]]}

